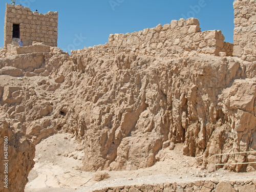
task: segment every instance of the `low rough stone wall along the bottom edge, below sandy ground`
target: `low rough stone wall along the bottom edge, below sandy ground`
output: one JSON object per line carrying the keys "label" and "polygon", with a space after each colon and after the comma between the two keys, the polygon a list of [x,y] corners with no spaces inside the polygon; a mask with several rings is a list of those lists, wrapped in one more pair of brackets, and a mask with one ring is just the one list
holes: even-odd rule
{"label": "low rough stone wall along the bottom edge, below sandy ground", "polygon": [[187,183],[157,183],[157,184],[137,184],[137,185],[125,185],[125,186],[113,186],[106,187],[100,190],[93,190],[92,192],[105,192],[105,191],[143,191],[143,192],[184,192],[184,191],[216,191],[216,192],[249,192],[255,191],[255,180],[241,181],[219,181],[219,180],[205,180],[195,181]]}

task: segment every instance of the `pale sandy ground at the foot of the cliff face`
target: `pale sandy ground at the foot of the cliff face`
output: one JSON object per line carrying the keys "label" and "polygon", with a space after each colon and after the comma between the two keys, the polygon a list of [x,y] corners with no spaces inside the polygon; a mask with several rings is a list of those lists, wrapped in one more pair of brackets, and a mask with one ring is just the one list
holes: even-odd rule
{"label": "pale sandy ground at the foot of the cliff face", "polygon": [[95,181],[95,173],[82,172],[82,146],[70,134],[56,134],[36,145],[35,166],[29,174],[25,192],[86,192],[109,186],[134,185],[139,183],[191,182],[196,180],[248,180],[256,172],[228,173],[218,170],[217,177],[198,168],[195,158],[182,155],[182,144],[174,150],[165,148],[154,166],[131,171],[101,171],[109,179]]}

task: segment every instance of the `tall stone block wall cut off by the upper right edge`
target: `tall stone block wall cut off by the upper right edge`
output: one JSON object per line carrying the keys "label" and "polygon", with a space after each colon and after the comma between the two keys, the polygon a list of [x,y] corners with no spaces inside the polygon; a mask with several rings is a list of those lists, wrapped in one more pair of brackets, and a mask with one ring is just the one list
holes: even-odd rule
{"label": "tall stone block wall cut off by the upper right edge", "polygon": [[243,60],[256,60],[256,1],[236,0],[234,8],[233,56]]}

